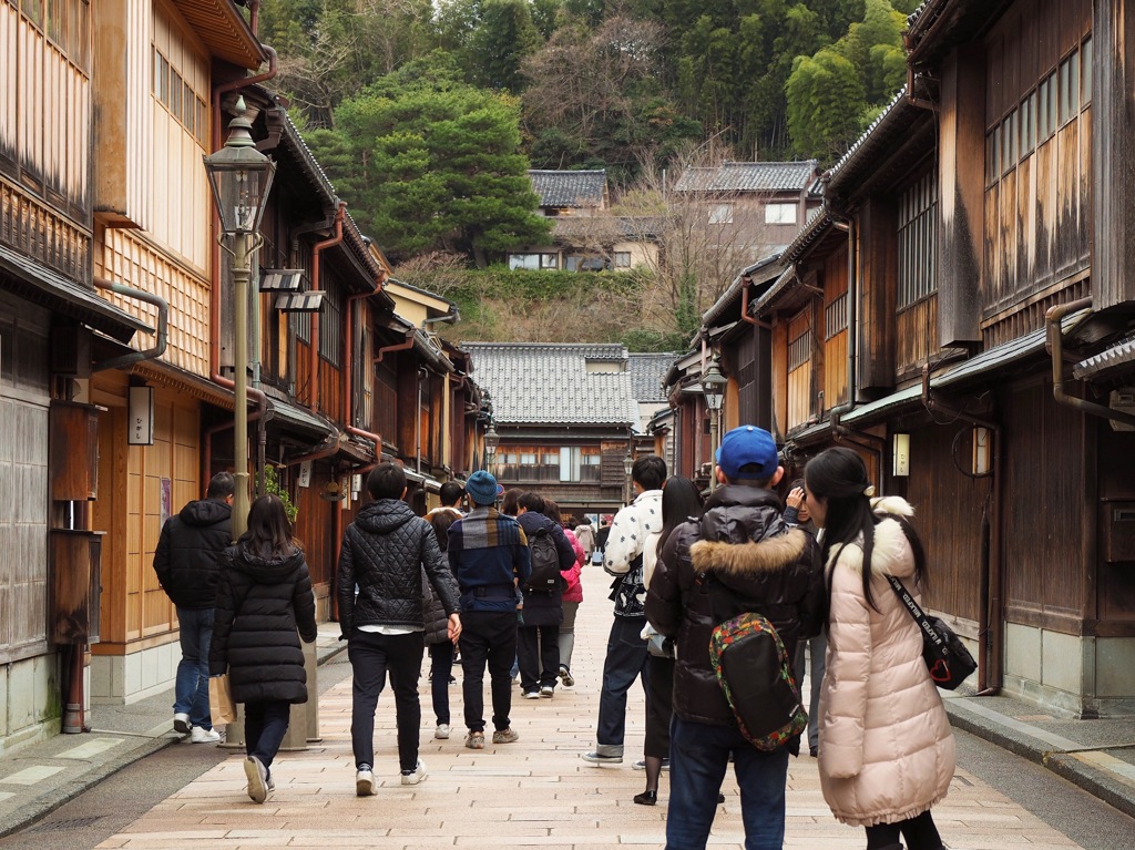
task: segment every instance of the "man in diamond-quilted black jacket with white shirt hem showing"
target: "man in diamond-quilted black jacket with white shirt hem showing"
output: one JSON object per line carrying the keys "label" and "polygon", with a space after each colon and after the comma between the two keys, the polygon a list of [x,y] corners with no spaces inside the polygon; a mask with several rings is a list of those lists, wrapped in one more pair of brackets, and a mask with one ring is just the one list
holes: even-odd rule
{"label": "man in diamond-quilted black jacket with white shirt hem showing", "polygon": [[448,617],[449,640],[456,642],[461,636],[456,581],[434,528],[401,500],[406,493],[402,468],[380,464],[368,477],[367,490],[373,500],[343,535],[337,579],[339,624],[354,671],[351,743],[360,797],[375,793],[375,709],[387,672],[394,689],[402,784],[417,785],[426,779],[418,758],[422,714],[418,674],[426,647],[423,569]]}

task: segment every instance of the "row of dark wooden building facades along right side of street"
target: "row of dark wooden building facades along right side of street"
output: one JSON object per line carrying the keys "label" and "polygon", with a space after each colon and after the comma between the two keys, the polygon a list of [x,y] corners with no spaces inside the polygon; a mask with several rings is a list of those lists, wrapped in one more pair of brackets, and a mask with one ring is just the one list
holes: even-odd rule
{"label": "row of dark wooden building facades along right side of street", "polygon": [[908,86],[748,297],[789,473],[860,452],[918,511],[973,684],[1082,717],[1135,713],[1133,12],[924,3]]}

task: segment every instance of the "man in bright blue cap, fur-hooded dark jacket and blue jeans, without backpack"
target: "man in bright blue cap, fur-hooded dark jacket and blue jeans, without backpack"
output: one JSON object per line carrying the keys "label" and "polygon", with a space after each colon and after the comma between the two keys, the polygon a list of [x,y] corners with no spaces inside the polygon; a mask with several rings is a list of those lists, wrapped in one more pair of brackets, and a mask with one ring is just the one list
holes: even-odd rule
{"label": "man in bright blue cap, fur-hooded dark jacket and blue jeans, without backpack", "polygon": [[746,850],[780,850],[788,757],[799,754],[799,737],[772,752],[749,743],[707,648],[718,624],[751,612],[772,622],[791,658],[797,640],[823,625],[823,572],[816,541],[784,523],[771,489],[784,474],[772,435],[734,428],[716,460],[722,486],[700,520],[682,523],[666,540],[646,598],[650,624],[676,640],[666,850],[705,848],[731,756]]}

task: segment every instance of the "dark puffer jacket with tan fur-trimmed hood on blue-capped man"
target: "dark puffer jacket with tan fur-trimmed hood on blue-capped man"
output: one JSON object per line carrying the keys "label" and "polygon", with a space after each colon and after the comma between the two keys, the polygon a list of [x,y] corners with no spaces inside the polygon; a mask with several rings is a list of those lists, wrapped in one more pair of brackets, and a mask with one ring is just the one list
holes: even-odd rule
{"label": "dark puffer jacket with tan fur-trimmed hood on blue-capped man", "polygon": [[[698,521],[666,540],[647,591],[646,614],[676,639],[674,712],[684,721],[733,725],[709,665],[714,628],[745,612],[768,617],[789,658],[798,638],[818,633],[824,582],[815,540],[781,519],[776,494],[729,485],[714,490]],[[716,582],[711,599],[709,584]]]}

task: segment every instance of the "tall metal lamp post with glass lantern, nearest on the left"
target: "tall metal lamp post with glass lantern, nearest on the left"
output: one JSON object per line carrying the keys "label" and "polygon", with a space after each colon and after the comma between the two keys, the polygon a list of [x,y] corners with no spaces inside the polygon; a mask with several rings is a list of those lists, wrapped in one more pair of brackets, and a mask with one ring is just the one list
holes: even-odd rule
{"label": "tall metal lamp post with glass lantern, nearest on the left", "polygon": [[[233,537],[244,533],[249,522],[249,293],[251,254],[259,247],[258,230],[264,200],[271,190],[276,163],[255,148],[252,123],[244,117],[244,98],[236,102],[237,116],[229,123],[228,141],[204,157],[224,236],[233,236],[233,322],[235,339],[233,465],[236,496],[233,499]],[[257,238],[254,243],[253,239]]]}

